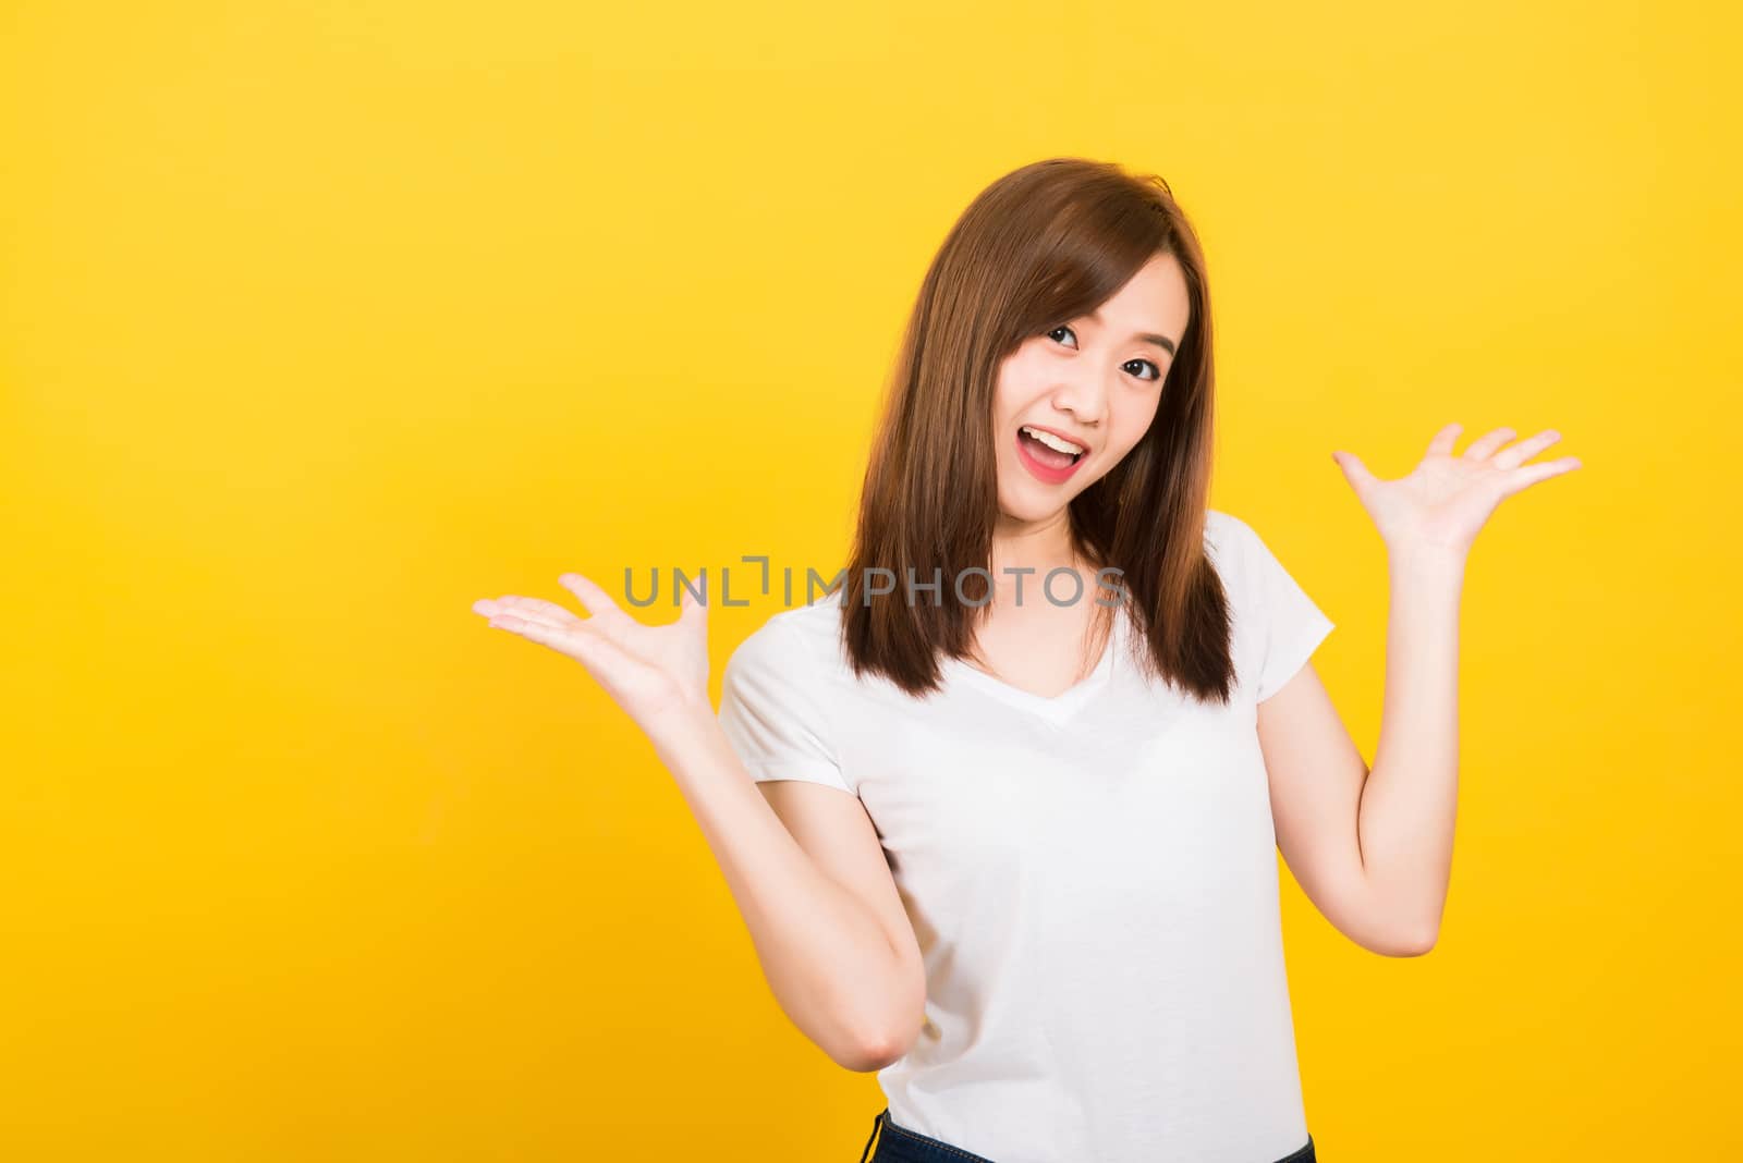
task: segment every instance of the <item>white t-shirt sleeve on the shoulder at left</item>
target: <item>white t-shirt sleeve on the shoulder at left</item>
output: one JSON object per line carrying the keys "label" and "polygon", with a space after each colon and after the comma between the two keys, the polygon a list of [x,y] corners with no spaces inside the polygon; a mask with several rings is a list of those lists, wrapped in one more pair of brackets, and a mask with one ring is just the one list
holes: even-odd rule
{"label": "white t-shirt sleeve on the shoulder at left", "polygon": [[720,677],[720,729],[758,783],[809,780],[856,794],[840,756],[804,637],[767,623],[732,653]]}

